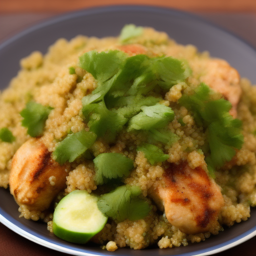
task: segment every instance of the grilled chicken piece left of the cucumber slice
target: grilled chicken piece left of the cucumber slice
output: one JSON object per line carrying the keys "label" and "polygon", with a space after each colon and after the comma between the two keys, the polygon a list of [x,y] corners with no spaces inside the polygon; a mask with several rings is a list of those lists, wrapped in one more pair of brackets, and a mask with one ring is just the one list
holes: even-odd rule
{"label": "grilled chicken piece left of the cucumber slice", "polygon": [[50,155],[39,139],[31,138],[12,158],[10,193],[19,205],[24,204],[29,210],[47,209],[56,194],[65,187],[67,167],[60,166]]}

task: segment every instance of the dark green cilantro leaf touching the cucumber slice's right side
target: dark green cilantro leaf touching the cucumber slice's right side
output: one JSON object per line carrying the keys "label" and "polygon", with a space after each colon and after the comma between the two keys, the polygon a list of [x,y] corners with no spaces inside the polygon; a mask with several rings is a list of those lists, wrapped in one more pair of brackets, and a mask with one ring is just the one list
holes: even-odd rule
{"label": "dark green cilantro leaf touching the cucumber slice's right side", "polygon": [[97,201],[98,209],[117,221],[144,218],[150,211],[147,201],[140,199],[139,187],[123,185],[103,194]]}

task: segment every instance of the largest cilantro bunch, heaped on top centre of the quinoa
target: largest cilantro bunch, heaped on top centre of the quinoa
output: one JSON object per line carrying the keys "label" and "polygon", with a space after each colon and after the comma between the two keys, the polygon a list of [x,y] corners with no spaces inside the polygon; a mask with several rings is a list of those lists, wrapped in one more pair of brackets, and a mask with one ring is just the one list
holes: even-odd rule
{"label": "largest cilantro bunch, heaped on top centre of the quinoa", "polygon": [[190,72],[188,66],[172,57],[128,56],[118,50],[92,50],[79,60],[80,67],[97,79],[97,88],[82,98],[83,116],[91,131],[99,137],[107,134],[109,141],[129,118],[128,130],[164,127],[174,118],[173,111],[156,104],[159,98],[144,94],[168,90]]}

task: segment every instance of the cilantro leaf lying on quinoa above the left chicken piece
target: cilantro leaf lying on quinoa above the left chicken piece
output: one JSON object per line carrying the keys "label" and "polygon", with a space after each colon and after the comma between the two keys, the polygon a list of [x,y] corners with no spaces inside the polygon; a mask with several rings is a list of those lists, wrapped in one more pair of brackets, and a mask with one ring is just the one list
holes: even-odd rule
{"label": "cilantro leaf lying on quinoa above the left chicken piece", "polygon": [[23,117],[22,126],[27,127],[27,133],[31,137],[37,137],[42,134],[45,121],[48,118],[50,106],[43,106],[34,101],[29,101],[26,107],[20,112]]}

